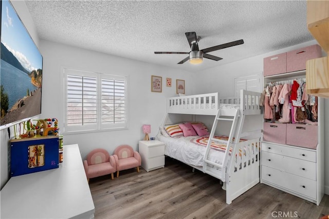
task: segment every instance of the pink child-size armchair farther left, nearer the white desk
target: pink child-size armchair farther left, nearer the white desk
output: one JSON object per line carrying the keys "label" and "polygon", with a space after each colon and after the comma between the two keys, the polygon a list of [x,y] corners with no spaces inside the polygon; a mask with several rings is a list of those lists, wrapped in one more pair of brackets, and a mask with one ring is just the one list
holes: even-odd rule
{"label": "pink child-size armchair farther left, nearer the white desk", "polygon": [[110,156],[104,149],[94,149],[87,155],[87,160],[83,161],[84,170],[89,182],[89,178],[104,176],[116,171],[116,163],[113,156]]}

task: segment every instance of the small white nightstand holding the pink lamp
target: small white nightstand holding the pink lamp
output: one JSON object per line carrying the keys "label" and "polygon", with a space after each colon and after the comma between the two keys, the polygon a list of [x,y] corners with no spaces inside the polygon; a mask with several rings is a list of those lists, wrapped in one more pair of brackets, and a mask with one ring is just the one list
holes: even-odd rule
{"label": "small white nightstand holding the pink lamp", "polygon": [[151,171],[165,167],[165,143],[157,140],[139,141],[142,168]]}

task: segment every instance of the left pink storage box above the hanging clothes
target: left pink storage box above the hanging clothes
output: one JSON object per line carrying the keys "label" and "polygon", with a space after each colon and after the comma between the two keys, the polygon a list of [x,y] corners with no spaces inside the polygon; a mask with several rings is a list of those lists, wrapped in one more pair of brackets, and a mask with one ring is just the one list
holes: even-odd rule
{"label": "left pink storage box above the hanging clothes", "polygon": [[264,58],[264,77],[287,72],[287,53]]}

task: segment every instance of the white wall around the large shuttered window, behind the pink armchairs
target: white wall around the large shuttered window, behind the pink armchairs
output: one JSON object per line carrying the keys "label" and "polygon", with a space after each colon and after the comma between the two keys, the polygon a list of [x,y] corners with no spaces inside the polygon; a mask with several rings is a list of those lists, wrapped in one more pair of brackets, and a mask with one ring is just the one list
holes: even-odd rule
{"label": "white wall around the large shuttered window, behind the pink armchairs", "polygon": [[[64,145],[78,143],[82,158],[95,148],[104,148],[112,154],[120,144],[130,144],[137,150],[138,141],[144,137],[142,124],[151,124],[150,137],[156,136],[166,113],[166,98],[176,95],[176,79],[185,80],[186,93],[193,93],[191,72],[43,40],[41,52],[44,57],[41,118],[57,118],[60,129],[63,127],[63,67],[129,77],[127,130],[64,134]],[[162,77],[162,93],[151,92],[152,75]],[[171,87],[166,86],[166,78],[172,79]]]}

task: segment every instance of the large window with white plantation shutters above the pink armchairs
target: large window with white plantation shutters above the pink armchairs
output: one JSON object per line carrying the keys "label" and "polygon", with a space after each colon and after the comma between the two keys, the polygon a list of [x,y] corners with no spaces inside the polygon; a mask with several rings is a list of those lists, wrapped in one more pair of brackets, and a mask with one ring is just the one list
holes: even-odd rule
{"label": "large window with white plantation shutters above the pink armchairs", "polygon": [[127,127],[124,76],[64,69],[64,132]]}

